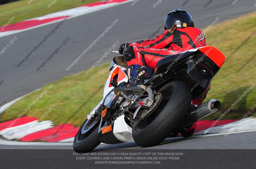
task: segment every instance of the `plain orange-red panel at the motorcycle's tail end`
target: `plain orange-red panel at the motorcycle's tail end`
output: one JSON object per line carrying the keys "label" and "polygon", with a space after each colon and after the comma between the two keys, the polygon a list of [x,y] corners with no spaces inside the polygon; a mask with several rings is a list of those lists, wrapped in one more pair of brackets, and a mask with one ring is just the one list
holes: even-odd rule
{"label": "plain orange-red panel at the motorcycle's tail end", "polygon": [[222,67],[225,55],[219,49],[214,46],[205,46],[199,48],[199,50],[208,56],[218,67]]}

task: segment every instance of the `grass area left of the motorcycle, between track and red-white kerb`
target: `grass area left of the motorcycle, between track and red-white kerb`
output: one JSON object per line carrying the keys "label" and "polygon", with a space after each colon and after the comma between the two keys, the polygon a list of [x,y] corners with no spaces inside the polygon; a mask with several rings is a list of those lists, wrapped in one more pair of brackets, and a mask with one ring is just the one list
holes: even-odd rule
{"label": "grass area left of the motorcycle, between track and red-white kerb", "polygon": [[[52,120],[54,125],[64,123],[68,117],[73,114],[81,104],[87,101],[88,98],[105,82],[109,74],[109,64],[104,64],[96,67],[90,74],[86,75],[84,72],[73,76],[68,76],[60,81],[53,82],[53,86],[47,94],[45,94],[39,102],[24,116],[40,118],[52,104],[55,108],[44,117],[43,120]],[[4,111],[0,116],[0,122],[17,118],[29,104],[31,104],[51,83],[45,85],[42,89],[37,90],[20,101],[16,102],[9,109]],[[81,111],[69,123],[74,124],[76,127],[84,122],[87,113],[94,108],[94,106],[102,99],[103,89],[88,102]]]}

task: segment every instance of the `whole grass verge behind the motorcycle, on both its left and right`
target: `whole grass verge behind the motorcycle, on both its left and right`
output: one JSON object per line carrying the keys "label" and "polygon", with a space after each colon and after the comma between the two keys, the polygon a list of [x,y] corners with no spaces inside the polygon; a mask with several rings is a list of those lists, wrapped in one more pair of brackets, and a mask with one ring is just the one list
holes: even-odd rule
{"label": "whole grass verge behind the motorcycle, on both its left and right", "polygon": [[[211,45],[219,39],[220,43],[216,47],[228,56],[233,52],[234,48],[239,46],[244,39],[255,30],[255,15],[256,12],[253,12],[240,18],[216,24],[206,33],[207,44]],[[236,70],[255,53],[255,46],[256,36],[251,38],[245,46],[229,59],[214,77],[211,90],[208,92],[205,100],[211,98],[218,99],[222,102],[222,107],[220,111],[205,119],[212,120],[219,118],[220,113],[228,109],[245,90],[253,83],[256,83],[254,80],[256,58],[248,64],[244,70],[240,73],[236,73]],[[24,116],[28,115],[39,118],[52,104],[55,104],[56,108],[45,116],[44,120],[52,120],[55,125],[64,123],[68,117],[101,86],[101,84],[105,84],[109,74],[108,66],[109,63],[96,67],[95,70],[88,75],[82,72],[52,83],[53,87]],[[3,122],[17,118],[17,116],[28,107],[28,104],[31,104],[48,86],[49,84],[45,85],[41,90],[35,91],[13,104],[2,113],[0,121]],[[81,123],[83,123],[86,114],[101,100],[102,93],[103,89],[69,123],[79,127]],[[250,110],[256,103],[255,95],[256,86],[222,119],[237,119],[244,116],[247,110]],[[256,112],[256,110],[254,112]],[[255,114],[254,112],[253,114]]]}

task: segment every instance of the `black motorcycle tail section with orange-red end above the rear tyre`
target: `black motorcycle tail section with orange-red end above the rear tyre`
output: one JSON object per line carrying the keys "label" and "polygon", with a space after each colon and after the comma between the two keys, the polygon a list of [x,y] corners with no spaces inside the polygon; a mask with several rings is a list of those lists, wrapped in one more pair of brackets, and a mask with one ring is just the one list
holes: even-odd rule
{"label": "black motorcycle tail section with orange-red end above the rear tyre", "polygon": [[[224,54],[214,46],[190,49],[159,60],[154,77],[147,83],[154,82],[156,88],[167,81],[184,81],[194,88],[195,99],[204,93],[224,61]],[[198,86],[194,87],[196,83]]]}

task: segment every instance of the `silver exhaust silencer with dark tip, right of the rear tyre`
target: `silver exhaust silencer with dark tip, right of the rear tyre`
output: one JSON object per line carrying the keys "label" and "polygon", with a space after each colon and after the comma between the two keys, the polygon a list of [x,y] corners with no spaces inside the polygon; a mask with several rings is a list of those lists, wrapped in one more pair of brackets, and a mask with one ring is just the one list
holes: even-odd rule
{"label": "silver exhaust silencer with dark tip, right of the rear tyre", "polygon": [[194,107],[188,111],[188,114],[180,122],[176,129],[184,128],[185,126],[198,121],[201,118],[204,118],[212,113],[215,113],[220,109],[221,102],[215,99],[211,99],[203,104]]}

